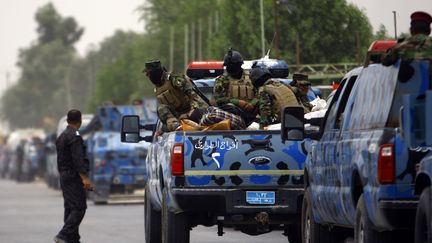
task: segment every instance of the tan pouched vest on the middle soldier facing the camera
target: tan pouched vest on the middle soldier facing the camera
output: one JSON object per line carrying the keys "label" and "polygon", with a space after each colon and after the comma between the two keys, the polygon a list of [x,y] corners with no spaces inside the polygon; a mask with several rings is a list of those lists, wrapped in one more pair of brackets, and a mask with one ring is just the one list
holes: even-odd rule
{"label": "tan pouched vest on the middle soldier facing the camera", "polygon": [[228,96],[246,101],[255,98],[254,86],[248,73],[243,73],[241,79],[234,79],[229,76]]}

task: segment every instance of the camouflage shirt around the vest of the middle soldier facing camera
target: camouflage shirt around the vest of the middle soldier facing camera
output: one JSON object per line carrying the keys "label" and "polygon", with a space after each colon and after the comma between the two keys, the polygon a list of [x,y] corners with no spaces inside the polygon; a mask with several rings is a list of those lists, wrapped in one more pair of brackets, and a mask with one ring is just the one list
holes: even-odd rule
{"label": "camouflage shirt around the vest of the middle soldier facing camera", "polygon": [[[245,72],[243,72],[243,76],[240,80],[244,80],[246,78],[249,79],[249,77],[246,77],[246,75],[249,75]],[[216,78],[215,80],[215,86],[213,88],[213,96],[216,100],[216,103],[218,106],[227,104],[227,103],[232,103],[236,106],[239,105],[239,99],[238,98],[234,98],[234,97],[230,97],[230,93],[229,93],[229,86],[231,84],[232,81],[235,81],[236,79],[234,79],[233,77],[231,77],[229,74],[224,73],[223,75],[219,76]],[[250,88],[254,91],[254,94],[256,94],[256,90],[255,87],[251,84]],[[250,100],[245,100],[247,102],[250,102],[252,105],[257,104],[257,99],[253,98]]]}

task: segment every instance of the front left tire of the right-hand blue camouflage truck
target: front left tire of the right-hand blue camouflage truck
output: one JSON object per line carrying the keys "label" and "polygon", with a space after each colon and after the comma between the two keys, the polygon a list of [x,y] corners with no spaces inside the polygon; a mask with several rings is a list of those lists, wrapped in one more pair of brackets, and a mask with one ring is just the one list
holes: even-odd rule
{"label": "front left tire of the right-hand blue camouflage truck", "polygon": [[[301,238],[303,243],[334,243],[333,234],[327,226],[313,219],[309,189],[305,190],[302,204]],[[291,242],[291,241],[290,241]]]}

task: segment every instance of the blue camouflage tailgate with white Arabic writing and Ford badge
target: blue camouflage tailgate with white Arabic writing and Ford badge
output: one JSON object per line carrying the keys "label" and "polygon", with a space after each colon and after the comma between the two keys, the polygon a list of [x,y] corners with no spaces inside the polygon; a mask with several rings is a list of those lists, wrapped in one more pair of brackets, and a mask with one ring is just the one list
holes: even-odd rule
{"label": "blue camouflage tailgate with white Arabic writing and Ford badge", "polygon": [[185,132],[184,187],[302,186],[309,143],[282,143],[280,131]]}

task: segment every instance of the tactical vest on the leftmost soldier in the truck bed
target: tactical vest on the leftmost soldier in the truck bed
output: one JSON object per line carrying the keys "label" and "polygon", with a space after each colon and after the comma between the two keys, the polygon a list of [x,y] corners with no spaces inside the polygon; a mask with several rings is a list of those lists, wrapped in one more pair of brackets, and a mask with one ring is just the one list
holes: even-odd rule
{"label": "tactical vest on the leftmost soldier in the truck bed", "polygon": [[182,90],[172,85],[171,78],[166,78],[162,86],[155,88],[159,104],[172,106],[177,111],[188,110],[191,103],[189,97]]}

